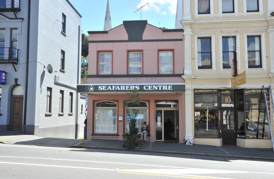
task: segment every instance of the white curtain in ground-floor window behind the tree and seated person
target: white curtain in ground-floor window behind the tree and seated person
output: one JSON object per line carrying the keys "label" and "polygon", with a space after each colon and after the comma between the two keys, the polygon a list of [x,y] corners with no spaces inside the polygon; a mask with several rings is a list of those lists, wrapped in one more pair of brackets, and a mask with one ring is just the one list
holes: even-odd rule
{"label": "white curtain in ground-floor window behind the tree and seated person", "polygon": [[[149,125],[149,120],[147,116],[147,109],[136,109],[138,110],[138,116],[136,117],[136,127],[139,129],[138,133],[141,133],[141,126],[143,125],[143,122],[146,121],[147,125]],[[132,109],[130,109],[130,113],[132,113]],[[127,115],[126,119],[126,129],[129,131],[130,130],[130,122],[129,122],[129,117]]]}

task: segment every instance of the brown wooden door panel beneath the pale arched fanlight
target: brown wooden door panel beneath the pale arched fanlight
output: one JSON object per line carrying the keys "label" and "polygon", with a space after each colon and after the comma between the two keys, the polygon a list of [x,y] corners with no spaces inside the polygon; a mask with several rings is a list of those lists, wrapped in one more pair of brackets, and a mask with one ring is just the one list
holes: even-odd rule
{"label": "brown wooden door panel beneath the pale arched fanlight", "polygon": [[22,130],[22,118],[23,118],[23,98],[13,98],[13,122],[12,130]]}

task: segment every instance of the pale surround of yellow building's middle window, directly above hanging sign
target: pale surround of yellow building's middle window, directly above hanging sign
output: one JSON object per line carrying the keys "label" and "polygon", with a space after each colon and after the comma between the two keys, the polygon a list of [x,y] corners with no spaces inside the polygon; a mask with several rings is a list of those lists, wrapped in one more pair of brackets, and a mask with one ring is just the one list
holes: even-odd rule
{"label": "pale surround of yellow building's middle window, directly above hanging sign", "polygon": [[223,44],[222,44],[222,37],[229,37],[229,36],[236,37],[236,51],[238,53],[238,60],[239,60],[239,69],[241,70],[241,50],[240,50],[240,33],[220,33],[219,34],[219,47],[220,47],[220,70],[231,70],[231,69],[223,69]]}

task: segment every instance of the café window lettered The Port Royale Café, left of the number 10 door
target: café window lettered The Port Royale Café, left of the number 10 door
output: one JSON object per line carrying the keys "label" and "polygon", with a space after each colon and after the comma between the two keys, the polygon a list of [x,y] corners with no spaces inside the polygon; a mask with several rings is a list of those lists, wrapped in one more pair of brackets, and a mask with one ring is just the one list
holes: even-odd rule
{"label": "caf\u00e9 window lettered The Port Royale Caf\u00e9, left of the number 10 door", "polygon": [[195,137],[217,138],[219,131],[217,90],[195,90]]}

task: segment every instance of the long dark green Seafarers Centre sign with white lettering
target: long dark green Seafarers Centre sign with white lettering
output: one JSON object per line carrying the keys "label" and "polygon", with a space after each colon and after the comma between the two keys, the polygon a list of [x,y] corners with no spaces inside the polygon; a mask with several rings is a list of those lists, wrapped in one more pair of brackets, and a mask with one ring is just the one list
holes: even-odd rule
{"label": "long dark green Seafarers Centre sign with white lettering", "polygon": [[79,93],[109,93],[127,92],[133,89],[137,92],[185,92],[184,83],[172,84],[78,84]]}

